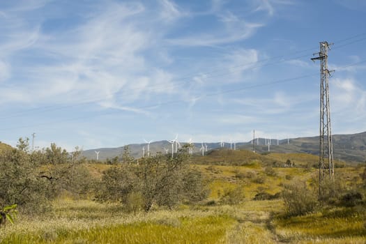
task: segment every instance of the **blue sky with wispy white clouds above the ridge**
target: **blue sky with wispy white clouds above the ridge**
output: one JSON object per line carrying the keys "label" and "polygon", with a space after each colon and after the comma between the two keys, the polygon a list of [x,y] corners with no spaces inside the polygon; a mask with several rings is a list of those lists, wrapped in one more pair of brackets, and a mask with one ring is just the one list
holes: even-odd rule
{"label": "blue sky with wispy white clouds above the ridge", "polygon": [[0,1],[0,141],[73,151],[366,130],[366,1]]}

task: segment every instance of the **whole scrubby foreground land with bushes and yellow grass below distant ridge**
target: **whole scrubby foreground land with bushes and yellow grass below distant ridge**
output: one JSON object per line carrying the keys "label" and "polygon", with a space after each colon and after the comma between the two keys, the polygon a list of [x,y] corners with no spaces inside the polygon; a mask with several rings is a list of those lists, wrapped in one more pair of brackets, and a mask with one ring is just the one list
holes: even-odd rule
{"label": "whole scrubby foreground land with bushes and yellow grass below distant ridge", "polygon": [[139,160],[124,148],[108,165],[20,139],[0,153],[0,212],[20,212],[0,242],[364,243],[366,168],[336,168],[319,198],[316,165],[301,153],[185,148]]}

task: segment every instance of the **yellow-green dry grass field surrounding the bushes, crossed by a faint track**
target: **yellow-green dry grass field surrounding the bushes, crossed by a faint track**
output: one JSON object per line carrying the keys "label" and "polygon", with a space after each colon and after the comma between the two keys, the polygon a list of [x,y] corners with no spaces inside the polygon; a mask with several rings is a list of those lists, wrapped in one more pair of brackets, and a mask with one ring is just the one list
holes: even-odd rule
{"label": "yellow-green dry grass field surrounding the bushes, crossed by a faint track", "polygon": [[[313,160],[311,155],[273,155],[270,160],[281,157]],[[154,206],[148,213],[125,213],[121,204],[63,196],[49,213],[20,215],[14,225],[0,227],[0,243],[366,243],[365,206],[319,208],[291,217],[284,214],[282,199],[254,201],[258,192],[275,194],[284,184],[310,182],[317,176],[314,168],[268,168],[256,160],[242,166],[195,163],[192,167],[204,174],[211,194],[201,204],[173,210]],[[100,178],[109,166],[87,167]],[[363,167],[344,167],[336,169],[336,175],[351,187],[361,182],[362,171]],[[238,186],[243,201],[220,204],[223,192]]]}

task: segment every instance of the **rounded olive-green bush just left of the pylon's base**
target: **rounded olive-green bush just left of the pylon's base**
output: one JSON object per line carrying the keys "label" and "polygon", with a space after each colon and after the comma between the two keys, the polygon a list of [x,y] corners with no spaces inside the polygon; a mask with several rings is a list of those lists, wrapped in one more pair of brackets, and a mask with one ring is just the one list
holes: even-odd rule
{"label": "rounded olive-green bush just left of the pylon's base", "polygon": [[317,195],[306,187],[305,182],[284,185],[282,197],[288,215],[310,213],[318,204]]}

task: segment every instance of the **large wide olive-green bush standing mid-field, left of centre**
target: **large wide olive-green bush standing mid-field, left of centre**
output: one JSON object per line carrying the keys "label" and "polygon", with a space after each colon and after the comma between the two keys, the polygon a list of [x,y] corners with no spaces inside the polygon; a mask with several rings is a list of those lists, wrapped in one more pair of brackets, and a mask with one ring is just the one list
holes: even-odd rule
{"label": "large wide olive-green bush standing mid-field, left of centre", "polygon": [[202,178],[200,171],[190,169],[187,155],[158,154],[139,160],[139,165],[116,165],[104,171],[96,185],[96,200],[119,201],[126,211],[149,211],[153,204],[173,208],[182,201],[195,203],[207,197]]}

